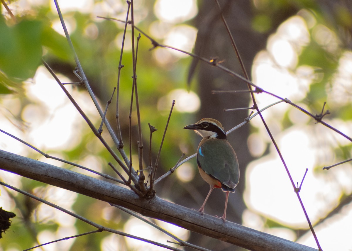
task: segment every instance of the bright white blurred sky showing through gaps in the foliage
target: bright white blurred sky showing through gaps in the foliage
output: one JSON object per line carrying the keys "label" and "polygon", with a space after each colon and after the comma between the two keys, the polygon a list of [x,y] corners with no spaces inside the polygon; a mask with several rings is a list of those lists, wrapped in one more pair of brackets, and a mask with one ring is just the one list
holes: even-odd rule
{"label": "bright white blurred sky showing through gaps in the foliage", "polygon": [[[41,1],[21,0],[17,2],[17,5],[26,9],[29,8],[30,5],[34,3],[39,4],[40,2]],[[143,1],[140,2],[143,4]],[[94,15],[100,14],[105,16],[116,14],[112,13],[112,10],[124,8],[124,6],[120,5],[119,1],[116,1],[114,8],[111,7],[111,4],[106,4],[106,2],[94,4],[94,1],[92,0],[60,0],[59,4],[62,12],[79,10],[81,12],[91,13],[92,8],[94,8]],[[52,8],[53,11],[55,11],[54,5],[52,5]],[[192,51],[197,30],[192,26],[181,23],[195,17],[197,11],[195,0],[158,0],[156,1],[154,12],[159,18],[159,21],[155,21],[150,26],[149,32],[151,36],[163,39],[165,44],[182,50]],[[142,18],[144,15],[145,13],[141,12],[139,13],[139,16],[137,15],[137,18]],[[307,17],[307,13],[305,13],[305,17]],[[69,21],[67,24],[70,31],[75,29],[73,21]],[[268,39],[266,50],[257,54],[252,69],[253,82],[263,89],[274,92],[284,98],[288,98],[293,102],[302,99],[308,92],[312,81],[319,77],[314,74],[314,69],[308,66],[296,67],[298,54],[303,46],[309,43],[310,38],[308,29],[314,27],[314,25],[315,21],[312,16],[308,19],[303,19],[301,16],[297,15],[285,21],[278,28],[277,32],[272,34]],[[54,27],[57,31],[62,32],[61,25],[58,25],[57,22],[54,23]],[[87,36],[94,38],[96,35],[95,29],[96,27],[94,26],[87,28]],[[325,26],[317,25],[314,28],[314,37],[318,43],[325,44],[331,51],[337,48],[337,38]],[[116,43],[119,43],[118,36]],[[127,50],[128,48],[125,49]],[[170,62],[177,61],[180,57],[184,57],[184,55],[178,52],[165,49],[156,49],[153,50],[152,53],[153,57],[157,59],[160,65],[167,65]],[[340,89],[336,89],[339,88],[339,86],[351,88],[351,66],[352,52],[346,52],[344,57],[340,60],[341,74],[337,76],[336,80],[340,85],[336,85],[330,94],[333,102],[339,103],[346,102],[346,100],[348,100],[348,102],[351,101],[351,98],[341,99],[339,97],[339,93],[341,93]],[[62,76],[60,76],[60,78],[62,81],[65,81]],[[72,109],[66,96],[62,93],[61,89],[58,88],[57,83],[49,76],[43,67],[39,68],[33,82],[26,84],[26,91],[27,95],[33,99],[33,101],[36,101],[36,104],[28,105],[23,110],[24,118],[27,121],[31,121],[31,124],[28,125],[28,129],[21,131],[17,127],[14,127],[13,124],[6,119],[6,111],[0,113],[1,128],[13,133],[17,137],[31,142],[37,148],[42,150],[74,148],[79,143],[80,134],[73,129],[78,129],[78,131],[80,131],[83,124],[77,123],[77,118],[79,117],[78,113]],[[98,118],[98,115],[94,112],[93,105],[89,105],[90,98],[87,94],[75,92],[73,89],[70,89],[70,92],[73,93],[78,102],[85,104],[84,109],[91,117]],[[176,108],[178,111],[193,113],[199,110],[201,104],[197,94],[194,92],[187,92],[183,89],[172,90],[168,95],[161,97],[158,101],[159,109],[162,110],[162,108],[160,108],[164,107],[162,103],[170,103],[170,99],[174,96],[184,100],[183,103],[187,103],[184,107],[177,106]],[[257,95],[259,107],[265,107],[275,101],[277,101],[277,99],[272,98],[271,96],[265,94]],[[4,107],[19,106],[19,100],[16,99],[4,99],[3,103]],[[304,106],[303,104],[300,105]],[[294,126],[288,130],[282,131],[279,121],[287,109],[290,111],[289,117],[294,123]],[[327,133],[327,131],[320,125],[307,126],[306,123],[309,118],[306,115],[297,112],[296,109],[288,107],[287,104],[280,104],[272,107],[265,111],[263,115],[270,128],[276,132],[275,139],[277,140],[279,148],[287,162],[294,182],[300,183],[306,168],[309,169],[300,195],[306,206],[309,217],[314,224],[314,222],[321,217],[324,217],[326,213],[336,205],[341,192],[348,194],[352,191],[352,171],[350,165],[341,165],[338,168],[330,170],[330,175],[326,175],[327,171],[320,170],[317,172],[314,170],[314,167],[317,165],[323,167],[324,165],[334,163],[335,156],[328,152],[326,152],[323,156],[323,161],[321,161],[321,152],[327,148],[328,144],[335,144],[334,140],[337,139],[340,143],[343,143],[344,140],[339,139],[336,135],[332,135],[331,139],[328,139],[327,142],[319,142],[319,139],[313,140],[312,135],[316,138],[319,132]],[[62,124],[61,121],[65,121],[65,123]],[[331,122],[339,125],[339,128],[343,128],[346,134],[352,135],[351,125],[345,124],[344,121]],[[265,150],[265,145],[269,142],[269,138],[258,117],[251,121],[251,125],[257,127],[259,133],[253,133],[248,140],[248,144],[253,156],[261,156]],[[56,132],[55,134],[51,133],[54,131]],[[28,151],[26,146],[3,134],[0,134],[0,142],[1,149],[6,151],[15,152],[20,155],[26,155]],[[55,164],[58,165],[57,163]],[[184,172],[184,174],[182,174],[182,172]],[[187,165],[187,163],[180,167],[176,174],[183,179],[183,181],[189,181],[194,175],[197,175],[190,171],[190,165]],[[17,182],[18,178],[16,178],[15,175],[1,172],[1,176],[3,177],[4,182],[21,187],[21,184]],[[243,215],[243,225],[291,240],[294,240],[295,238],[293,231],[283,228],[267,229],[264,227],[265,222],[263,222],[263,218],[258,217],[258,214],[292,227],[307,227],[307,221],[303,215],[302,208],[299,205],[288,176],[274,148],[270,149],[269,155],[253,161],[248,165],[245,182],[246,190],[244,196],[248,209]],[[55,196],[63,193],[62,189],[55,190],[55,188],[52,188],[52,190],[53,191],[50,194],[54,194]],[[50,197],[50,200],[52,202],[55,202],[56,200],[60,201],[60,196],[56,199],[55,196]],[[71,198],[68,204],[64,205],[69,209],[72,205],[70,202],[73,202],[75,197],[70,193],[63,196],[69,196]],[[11,200],[6,197],[6,194],[1,194],[1,199],[11,204]],[[62,205],[62,201],[58,203]],[[57,233],[41,232],[38,237],[40,241],[50,241],[62,238],[63,236],[75,234],[71,232],[68,233],[69,231],[72,231],[69,227],[73,224],[72,219],[67,218],[65,215],[62,215],[51,208],[44,208],[45,206],[43,205],[40,207],[40,210],[43,210],[46,214],[54,214],[54,218],[60,218],[60,222],[63,223]],[[108,215],[108,212],[105,213]],[[108,217],[106,215],[103,217]],[[62,221],[63,218],[65,218],[64,221]],[[323,250],[351,250],[351,222],[352,206],[347,205],[343,209],[341,215],[336,215],[327,220],[324,224],[315,228]],[[138,227],[138,230],[140,231],[141,225],[139,225],[139,221],[131,219],[126,223],[125,231],[130,233],[135,232],[134,228],[136,227]],[[168,239],[164,236],[158,236],[157,233],[153,233],[154,228],[146,225],[143,225],[143,227],[150,229],[151,234],[150,236],[145,236],[145,238],[153,239],[153,236],[161,242],[165,242],[165,240]],[[182,231],[181,228],[170,225],[164,227],[171,227],[171,232],[176,232],[179,237],[183,236],[187,239],[188,231]],[[103,243],[104,249],[115,246],[116,241],[117,238],[115,235],[106,237]],[[298,242],[316,247],[315,241],[310,232]],[[56,249],[60,250],[59,245],[69,246],[70,243],[70,241],[66,240],[57,244]],[[128,245],[130,245],[131,249],[140,248],[139,246],[134,246],[135,243],[138,245],[141,244],[139,241],[128,241]],[[65,246],[65,249],[68,246]],[[164,249],[151,247],[150,250]]]}

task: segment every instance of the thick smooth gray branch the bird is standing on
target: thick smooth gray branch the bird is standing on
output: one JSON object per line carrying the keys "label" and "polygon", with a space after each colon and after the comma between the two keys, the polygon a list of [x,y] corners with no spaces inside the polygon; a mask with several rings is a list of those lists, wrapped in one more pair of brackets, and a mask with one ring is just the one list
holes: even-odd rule
{"label": "thick smooth gray branch the bird is standing on", "polygon": [[253,251],[313,251],[307,247],[267,233],[189,208],[157,196],[140,199],[134,192],[106,181],[0,150],[0,169],[46,184],[61,187],[98,200],[113,203],[144,216],[170,222],[190,231],[216,238]]}

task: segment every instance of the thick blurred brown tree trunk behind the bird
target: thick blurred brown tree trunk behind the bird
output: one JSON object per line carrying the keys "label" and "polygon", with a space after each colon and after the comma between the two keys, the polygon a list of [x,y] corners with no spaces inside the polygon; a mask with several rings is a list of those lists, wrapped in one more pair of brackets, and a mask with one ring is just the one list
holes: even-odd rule
{"label": "thick blurred brown tree trunk behind the bird", "polygon": [[[275,31],[283,20],[291,14],[296,13],[297,10],[294,8],[283,10],[277,19],[273,21],[275,27],[272,27],[268,33],[263,34],[252,29],[254,7],[251,1],[220,1],[220,5],[224,10],[225,19],[231,29],[246,71],[251,77],[253,59],[258,51],[265,48],[269,34]],[[219,16],[219,9],[215,5],[215,1],[202,2],[196,22],[196,27],[199,31],[195,45],[195,54],[206,58],[217,58],[218,62],[221,62],[225,67],[243,75],[230,38]],[[194,60],[190,67],[190,74],[192,74],[195,64],[196,60]],[[215,118],[222,123],[225,130],[229,130],[233,126],[242,123],[248,117],[248,110],[223,112],[223,109],[251,107],[252,101],[249,93],[212,94],[212,90],[246,90],[248,89],[246,83],[203,62],[198,63],[197,74],[201,99],[199,119]],[[230,144],[237,153],[240,166],[240,181],[236,192],[229,197],[226,219],[238,224],[241,224],[242,213],[246,209],[243,200],[245,170],[247,164],[253,160],[247,147],[248,136],[249,125],[239,128],[228,136]],[[201,180],[201,177],[197,175],[196,179]],[[209,185],[203,181],[195,183],[202,184],[196,187],[196,189],[205,199]],[[215,189],[209,197],[205,213],[222,215],[224,205],[225,193],[220,189]],[[234,250],[234,246],[229,246],[221,241],[205,238],[194,233],[191,234],[189,241],[190,243],[202,243],[201,246],[207,247],[210,250]]]}

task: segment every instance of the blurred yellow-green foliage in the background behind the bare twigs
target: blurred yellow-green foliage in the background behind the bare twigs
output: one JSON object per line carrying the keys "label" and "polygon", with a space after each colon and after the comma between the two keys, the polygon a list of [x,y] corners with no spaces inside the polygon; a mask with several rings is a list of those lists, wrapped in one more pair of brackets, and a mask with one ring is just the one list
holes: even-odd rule
{"label": "blurred yellow-green foliage in the background behind the bare twigs", "polygon": [[[203,4],[204,2],[205,1],[203,1]],[[315,1],[267,0],[254,2],[257,3],[257,5],[254,5],[253,7],[255,8],[255,11],[257,11],[257,15],[252,20],[251,26],[256,31],[262,33],[273,32],[277,28],[277,25],[275,24],[276,16],[274,13],[280,13],[280,11],[286,9],[289,4],[296,7],[298,6],[298,9],[310,8],[312,12],[316,13],[317,22],[326,24],[323,13]],[[16,1],[13,2],[13,4],[15,3]],[[99,1],[96,1],[96,4],[98,3]],[[149,33],[149,25],[152,21],[157,19],[151,14],[153,12],[153,1],[144,1],[144,5],[145,6],[141,7],[144,8],[143,11],[150,14],[147,14],[147,16],[144,17],[144,20],[141,20],[140,23],[137,23],[136,25],[138,27],[143,27],[144,31]],[[1,10],[2,13],[6,13],[3,8]],[[339,13],[338,22],[345,27],[350,26],[352,20],[351,13],[346,12],[343,8],[340,8],[337,11]],[[46,3],[45,5],[39,6],[33,5],[31,10],[28,10],[28,13],[25,11],[19,13],[16,18],[17,22],[13,25],[9,25],[7,24],[7,19],[9,19],[9,17],[5,18],[4,15],[0,16],[0,94],[13,94],[15,91],[21,92],[21,88],[24,86],[23,81],[31,79],[34,76],[37,68],[41,64],[42,56],[49,62],[49,64],[53,65],[53,68],[57,73],[69,77],[72,82],[77,82],[78,80],[72,74],[75,64],[71,51],[67,45],[66,39],[53,28],[53,23],[57,22],[57,14],[50,9],[49,4]],[[123,25],[115,21],[102,20],[96,18],[91,13],[81,13],[80,11],[65,12],[64,18],[67,19],[68,24],[73,27],[70,36],[78,58],[80,59],[82,67],[87,75],[87,79],[98,96],[102,104],[101,106],[105,107],[105,103],[109,99],[113,87],[117,84],[117,72],[121,49],[120,45],[117,43],[117,36],[123,31]],[[89,29],[93,29],[93,31],[90,31]],[[331,25],[329,29],[332,29],[333,32],[337,32],[333,25]],[[128,27],[128,30],[130,30],[130,27]],[[96,34],[92,35],[90,32],[96,32]],[[138,35],[138,33],[136,35]],[[158,110],[158,100],[162,96],[167,95],[173,89],[187,88],[186,75],[191,59],[189,57],[179,59],[171,56],[170,63],[161,64],[156,60],[153,54],[154,50],[149,50],[150,48],[152,48],[150,41],[142,36],[138,48],[138,93],[139,102],[141,104],[140,111],[145,154],[147,154],[149,144],[149,127],[147,123],[150,123],[158,129],[157,132],[153,133],[152,150],[154,163],[163,136],[169,109],[171,108],[170,100],[168,107],[164,107],[163,110]],[[317,72],[323,73],[323,77],[319,78],[319,81],[310,85],[308,95],[304,99],[304,102],[310,106],[310,108],[313,108],[313,111],[319,111],[322,103],[327,100],[327,86],[337,72],[339,65],[338,62],[341,55],[342,50],[335,51],[334,53],[329,52],[326,48],[318,44],[312,36],[310,43],[307,46],[304,46],[299,54],[297,67],[301,65],[309,65],[316,69]],[[120,123],[124,130],[122,135],[126,152],[128,148],[128,115],[132,86],[131,57],[131,50],[125,48],[122,58],[122,64],[124,64],[124,67],[121,70],[120,77],[119,104]],[[195,84],[192,84],[191,87],[192,89],[197,89]],[[84,91],[83,88],[80,87],[77,87],[77,89],[82,92]],[[25,94],[22,93],[22,95]],[[24,99],[23,103],[26,102],[30,101]],[[112,124],[114,124],[115,121],[115,113],[113,111],[116,105],[115,102],[116,101],[113,100],[110,105],[110,113],[108,114],[109,120]],[[176,100],[175,107],[177,107],[177,105],[178,101]],[[135,107],[135,104],[133,104],[133,106]],[[344,120],[352,119],[350,104],[339,107],[338,112],[340,118]],[[135,108],[133,108],[133,131],[137,130],[135,113]],[[16,115],[20,114],[21,113],[19,112]],[[159,164],[159,169],[162,170],[161,172],[165,172],[175,165],[180,158],[182,151],[187,149],[187,144],[195,146],[193,142],[194,138],[188,138],[189,134],[187,133],[180,133],[180,128],[194,121],[194,114],[182,113],[174,109],[162,149]],[[309,121],[309,123],[310,122],[311,121]],[[289,120],[287,113],[284,115],[281,123],[285,128],[293,125],[292,121]],[[96,119],[95,124],[98,127],[100,121]],[[256,129],[254,131],[256,131]],[[50,154],[55,155],[55,153],[60,153],[64,159],[77,163],[80,163],[80,161],[87,156],[95,156],[101,163],[103,169],[102,172],[113,175],[111,169],[107,166],[107,162],[112,161],[112,157],[109,156],[107,151],[99,145],[100,143],[90,133],[88,128],[84,128],[80,133],[82,133],[81,142],[79,142],[74,149],[68,151],[50,150]],[[336,155],[343,155],[343,158],[346,158],[348,151],[350,151],[350,145],[345,146],[345,148],[344,151],[341,152],[340,150],[340,153],[336,153]],[[190,154],[191,152],[192,151],[189,150],[187,154]],[[135,141],[133,141],[134,156],[136,153],[137,145],[135,144]],[[29,153],[29,155],[30,154],[33,153]],[[134,163],[137,163],[137,161],[134,161]],[[191,163],[195,164],[194,162]],[[196,168],[194,167],[194,169]],[[75,168],[75,170],[77,169]],[[171,179],[175,179],[174,176],[172,176]],[[39,186],[43,186],[43,184],[34,181],[23,181],[23,189],[29,192],[33,192],[33,189]],[[157,193],[159,193],[160,190],[157,190]],[[160,193],[162,193],[162,191]],[[55,232],[58,229],[59,222],[51,221],[45,224],[37,222],[33,213],[36,208],[31,208],[30,205],[26,204],[23,196],[13,196],[16,204],[14,208],[16,208],[15,213],[17,214],[17,217],[13,219],[10,228],[11,232],[6,232],[4,238],[1,240],[1,247],[3,250],[10,250],[11,248],[23,250],[36,245],[36,240],[33,236],[33,229],[36,230],[35,232],[37,234],[44,230]],[[34,205],[37,206],[36,204]],[[124,223],[128,219],[128,215],[121,213],[116,209],[111,209],[111,220],[105,220],[102,216],[102,209],[106,207],[110,206],[105,205],[105,203],[102,203],[101,201],[96,201],[83,195],[77,195],[72,210],[98,224],[117,230],[123,229]],[[20,213],[18,211],[20,211]],[[30,221],[25,220],[25,212],[30,213]],[[266,221],[266,224],[268,227],[282,227],[281,224],[270,219]],[[76,233],[83,233],[92,230],[91,226],[88,226],[86,223],[79,220],[75,221],[74,227]],[[108,233],[103,232],[76,238],[70,250],[100,250],[101,241],[107,235]],[[50,249],[50,246],[48,246],[48,249]]]}

